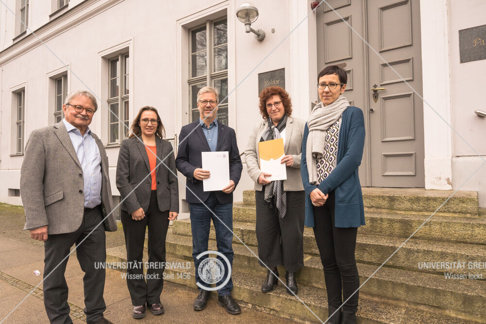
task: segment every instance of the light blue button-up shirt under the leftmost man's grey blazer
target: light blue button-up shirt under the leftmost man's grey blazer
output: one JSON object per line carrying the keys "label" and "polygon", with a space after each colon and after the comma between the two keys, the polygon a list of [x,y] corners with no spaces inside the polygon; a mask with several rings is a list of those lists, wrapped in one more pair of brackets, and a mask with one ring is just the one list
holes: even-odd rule
{"label": "light blue button-up shirt under the leftmost man's grey blazer", "polygon": [[91,130],[86,128],[85,135],[81,135],[79,129],[71,125],[66,119],[62,120],[68,130],[74,152],[78,156],[81,169],[83,169],[85,194],[85,207],[94,208],[101,204],[101,154],[95,139],[91,136]]}

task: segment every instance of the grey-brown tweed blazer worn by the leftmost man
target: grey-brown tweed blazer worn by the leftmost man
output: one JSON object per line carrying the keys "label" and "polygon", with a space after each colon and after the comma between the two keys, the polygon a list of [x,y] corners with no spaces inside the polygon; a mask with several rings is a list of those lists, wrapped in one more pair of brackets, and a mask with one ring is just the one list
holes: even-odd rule
{"label": "grey-brown tweed blazer worn by the leftmost man", "polygon": [[[101,154],[101,202],[104,229],[117,230],[111,213],[108,157],[102,141],[91,132]],[[83,169],[62,121],[32,132],[20,171],[20,197],[25,211],[24,229],[48,225],[48,234],[75,232],[84,215]],[[111,213],[111,214],[110,214]],[[106,215],[110,214],[106,218]]]}

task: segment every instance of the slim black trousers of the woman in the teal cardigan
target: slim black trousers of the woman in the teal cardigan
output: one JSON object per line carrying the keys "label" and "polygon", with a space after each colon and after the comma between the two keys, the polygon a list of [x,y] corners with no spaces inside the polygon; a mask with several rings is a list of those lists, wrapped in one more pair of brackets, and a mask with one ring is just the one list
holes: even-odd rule
{"label": "slim black trousers of the woman in the teal cardigan", "polygon": [[[331,191],[326,204],[313,207],[314,236],[324,268],[328,304],[340,307],[343,300],[347,300],[360,287],[355,258],[358,228],[334,226],[334,199],[334,191]],[[347,301],[343,310],[350,313],[358,310],[358,293]]]}

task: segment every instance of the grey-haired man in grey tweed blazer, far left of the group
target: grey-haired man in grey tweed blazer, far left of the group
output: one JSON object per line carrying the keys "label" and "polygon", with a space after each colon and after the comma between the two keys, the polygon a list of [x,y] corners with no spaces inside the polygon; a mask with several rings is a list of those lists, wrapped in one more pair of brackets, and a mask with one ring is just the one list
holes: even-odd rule
{"label": "grey-haired man in grey tweed blazer, far left of the group", "polygon": [[105,271],[100,263],[106,261],[104,231],[116,231],[117,224],[108,158],[88,127],[96,110],[90,92],[69,94],[65,119],[32,132],[20,172],[24,229],[44,241],[44,305],[51,323],[72,323],[64,272],[73,244],[85,273],[87,323],[111,323],[103,316]]}

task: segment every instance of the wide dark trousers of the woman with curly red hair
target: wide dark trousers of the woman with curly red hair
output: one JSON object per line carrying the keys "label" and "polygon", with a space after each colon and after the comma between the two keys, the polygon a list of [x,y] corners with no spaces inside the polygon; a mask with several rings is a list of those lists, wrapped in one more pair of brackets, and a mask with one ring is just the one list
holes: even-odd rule
{"label": "wide dark trousers of the woman with curly red hair", "polygon": [[276,205],[265,201],[264,190],[255,191],[258,257],[269,268],[283,264],[287,271],[295,272],[304,266],[305,193],[286,192],[287,213],[281,218]]}

